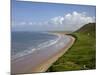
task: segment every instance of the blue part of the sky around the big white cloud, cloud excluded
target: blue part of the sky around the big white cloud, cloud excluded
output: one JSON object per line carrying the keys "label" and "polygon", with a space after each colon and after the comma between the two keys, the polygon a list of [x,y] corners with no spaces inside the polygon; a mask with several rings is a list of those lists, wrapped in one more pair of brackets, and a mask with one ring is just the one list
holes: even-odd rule
{"label": "blue part of the sky around the big white cloud, cloud excluded", "polygon": [[[26,1],[24,2],[24,1],[12,0],[12,28],[13,30],[22,30],[22,31],[24,30],[48,31],[50,30],[50,28],[51,30],[52,29],[65,30],[64,29],[66,27],[65,25],[62,25],[61,27],[59,27],[60,26],[59,24],[59,25],[56,25],[56,27],[54,27],[55,23],[51,23],[51,19],[55,17],[59,17],[59,16],[60,18],[61,17],[64,18],[65,15],[68,15],[68,14],[73,15],[74,12],[80,15],[85,14],[87,16],[86,18],[88,17],[94,18],[96,16],[95,10],[96,10],[95,6],[89,6],[89,5],[38,3],[38,2],[26,2]],[[58,22],[60,20],[58,20],[57,18],[56,21]],[[45,26],[46,28],[43,28],[44,23],[42,22],[48,22],[50,24],[47,24],[47,27]],[[41,23],[42,26],[40,26],[39,23]],[[23,26],[20,24],[22,24]],[[74,25],[69,24],[69,26],[72,27]],[[67,28],[69,26],[67,26]]]}

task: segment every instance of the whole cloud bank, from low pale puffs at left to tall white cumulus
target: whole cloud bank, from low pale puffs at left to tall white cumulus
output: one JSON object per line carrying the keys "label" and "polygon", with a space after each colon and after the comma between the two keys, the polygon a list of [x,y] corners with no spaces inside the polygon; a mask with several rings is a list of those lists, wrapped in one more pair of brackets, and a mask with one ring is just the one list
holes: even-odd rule
{"label": "whole cloud bank, from low pale puffs at left to tall white cumulus", "polygon": [[72,12],[64,16],[51,18],[44,22],[20,22],[19,29],[29,30],[66,30],[75,31],[87,23],[95,22],[95,17],[88,16],[86,12]]}

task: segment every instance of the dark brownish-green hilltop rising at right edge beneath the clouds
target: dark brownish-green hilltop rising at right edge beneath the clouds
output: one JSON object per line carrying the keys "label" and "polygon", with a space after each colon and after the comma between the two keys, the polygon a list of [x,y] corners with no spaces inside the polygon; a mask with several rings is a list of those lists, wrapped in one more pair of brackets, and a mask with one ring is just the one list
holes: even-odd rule
{"label": "dark brownish-green hilltop rising at right edge beneath the clouds", "polygon": [[84,25],[83,27],[81,27],[76,32],[95,36],[95,34],[96,34],[96,23],[88,23],[88,24]]}

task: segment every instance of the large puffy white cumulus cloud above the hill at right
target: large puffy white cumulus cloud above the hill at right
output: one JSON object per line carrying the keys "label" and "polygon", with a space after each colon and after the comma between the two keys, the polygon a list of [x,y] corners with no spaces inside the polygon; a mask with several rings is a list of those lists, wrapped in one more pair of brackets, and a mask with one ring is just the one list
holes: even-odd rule
{"label": "large puffy white cumulus cloud above the hill at right", "polygon": [[[49,23],[54,25],[58,25],[58,29],[62,30],[77,30],[82,27],[84,24],[95,22],[95,18],[91,16],[87,16],[85,12],[78,13],[76,11],[72,13],[68,13],[65,16],[58,16],[52,18]],[[62,25],[62,26],[60,26]]]}

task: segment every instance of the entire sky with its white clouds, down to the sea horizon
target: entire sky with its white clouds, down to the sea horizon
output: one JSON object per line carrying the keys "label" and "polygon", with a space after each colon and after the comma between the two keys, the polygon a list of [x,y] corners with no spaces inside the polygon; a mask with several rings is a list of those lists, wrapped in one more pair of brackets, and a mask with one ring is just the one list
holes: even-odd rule
{"label": "entire sky with its white clouds, down to the sea horizon", "polygon": [[75,31],[95,22],[96,7],[12,0],[12,31]]}

